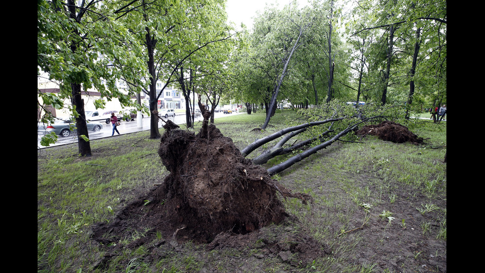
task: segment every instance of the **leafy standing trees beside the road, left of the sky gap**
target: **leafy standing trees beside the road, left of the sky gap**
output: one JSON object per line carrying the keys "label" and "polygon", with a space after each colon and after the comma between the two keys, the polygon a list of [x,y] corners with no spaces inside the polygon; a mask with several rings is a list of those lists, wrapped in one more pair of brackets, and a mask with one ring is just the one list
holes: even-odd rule
{"label": "leafy standing trees beside the road, left of the sky gap", "polygon": [[[48,73],[60,89],[58,96],[39,96],[44,105],[71,110],[83,156],[91,155],[83,90],[101,93],[99,108],[112,98],[141,108],[131,98],[144,92],[150,137],[158,138],[156,82],[163,82],[163,89],[179,83],[189,111],[195,86],[223,69],[223,56],[232,47],[223,0],[39,0],[37,19],[38,77]],[[129,86],[127,94],[116,88],[119,81]],[[64,99],[71,104],[64,106]]]}

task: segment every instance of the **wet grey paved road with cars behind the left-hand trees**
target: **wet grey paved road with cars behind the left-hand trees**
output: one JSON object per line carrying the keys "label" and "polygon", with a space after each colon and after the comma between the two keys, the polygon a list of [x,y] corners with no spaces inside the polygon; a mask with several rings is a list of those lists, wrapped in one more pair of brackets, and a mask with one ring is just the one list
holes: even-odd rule
{"label": "wet grey paved road with cars behind the left-hand trees", "polygon": [[[232,113],[229,115],[235,115],[235,114],[242,114],[243,112],[239,113]],[[228,116],[228,114],[223,114],[222,112],[219,113],[214,113],[214,118],[222,117],[222,116]],[[185,124],[186,123],[186,115],[185,114],[178,114],[174,117],[168,117],[168,118],[163,118],[163,119],[170,119],[172,120],[175,124]],[[202,118],[196,118],[197,121],[201,121]],[[111,137],[111,132],[112,132],[112,127],[111,124],[106,124],[102,122],[103,128],[95,133],[93,131],[89,132],[89,138],[90,139],[99,139],[99,138],[104,138],[104,137]],[[118,126],[118,131],[120,134],[127,134],[127,133],[133,133],[133,132],[139,132],[139,131],[145,131],[150,129],[150,117],[145,117],[143,118],[142,122],[143,126],[142,128],[138,128],[138,121],[132,120],[132,121],[121,121],[121,124]],[[164,123],[162,121],[158,122],[158,128],[161,128]],[[37,132],[37,149],[43,149],[43,148],[48,148],[52,146],[58,146],[58,145],[64,145],[64,144],[69,144],[69,143],[75,143],[77,142],[77,135],[75,133],[71,134],[69,137],[61,137],[58,136],[57,142],[55,144],[51,144],[50,146],[42,146],[41,145],[41,137],[43,136],[43,132]],[[116,132],[115,132],[116,134]]]}

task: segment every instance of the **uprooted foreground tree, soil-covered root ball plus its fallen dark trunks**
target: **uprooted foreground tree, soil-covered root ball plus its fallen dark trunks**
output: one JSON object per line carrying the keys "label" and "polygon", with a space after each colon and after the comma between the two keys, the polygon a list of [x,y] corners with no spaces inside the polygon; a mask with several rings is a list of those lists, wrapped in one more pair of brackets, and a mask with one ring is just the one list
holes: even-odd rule
{"label": "uprooted foreground tree, soil-covered root ball plus its fallen dark trunks", "polygon": [[[164,121],[165,132],[160,140],[158,154],[170,171],[169,175],[163,183],[127,206],[109,224],[97,226],[94,230],[96,240],[105,244],[111,242],[110,240],[116,240],[116,236],[121,236],[124,232],[121,229],[128,228],[126,223],[131,229],[141,228],[143,225],[143,228],[151,227],[151,233],[165,232],[164,236],[173,238],[178,233],[177,236],[197,242],[211,242],[221,232],[245,234],[270,223],[281,223],[289,215],[278,194],[283,198],[301,199],[303,203],[311,202],[311,198],[306,194],[292,193],[271,175],[355,131],[362,122],[377,119],[378,116],[383,118],[382,115],[372,118],[331,116],[321,121],[283,129],[256,141],[241,152],[231,138],[225,137],[214,124],[209,124],[210,111],[200,103],[200,100],[199,108],[203,115],[203,123],[196,134],[180,129],[170,120]],[[313,138],[283,148],[283,144],[291,137],[311,127],[344,121],[345,126],[335,126],[341,128],[335,132],[334,125],[331,125]],[[263,153],[253,160],[245,158],[263,143],[287,133],[288,135],[270,149],[270,152]],[[330,135],[334,133],[335,135]],[[268,158],[303,146],[310,148],[282,164],[269,169],[259,165]],[[135,219],[136,217],[141,219]],[[105,234],[114,236],[110,235],[109,239],[106,239]],[[134,242],[140,243],[143,242]],[[176,240],[170,243],[177,244]]]}

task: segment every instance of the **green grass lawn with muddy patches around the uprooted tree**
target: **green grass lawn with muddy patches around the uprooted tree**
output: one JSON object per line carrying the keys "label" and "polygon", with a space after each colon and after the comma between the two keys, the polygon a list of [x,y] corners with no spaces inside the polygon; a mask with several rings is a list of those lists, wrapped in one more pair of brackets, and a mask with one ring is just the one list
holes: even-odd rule
{"label": "green grass lawn with muddy patches around the uprooted tree", "polygon": [[[251,131],[263,124],[263,112],[222,117],[216,119],[215,124],[242,149],[258,138],[281,130],[287,126],[285,121],[296,117],[291,110],[279,112],[264,132]],[[446,153],[446,122],[435,124],[415,120],[405,125],[427,139],[427,143],[422,146],[383,143],[374,137],[366,137],[359,143],[337,142],[275,177],[286,187],[314,198],[312,205],[297,200],[284,202],[288,212],[299,219],[293,230],[304,231],[329,244],[333,256],[305,267],[281,263],[278,257],[268,256],[256,260],[257,264],[245,265],[244,272],[378,272],[373,268],[381,263],[375,257],[368,258],[370,264],[359,262],[365,248],[363,242],[370,240],[366,238],[372,238],[373,234],[378,237],[365,245],[384,244],[389,236],[386,232],[395,229],[395,233],[401,234],[402,230],[410,231],[411,226],[420,232],[421,240],[432,238],[445,244],[446,164],[439,161]],[[163,133],[163,129],[160,130]],[[161,183],[166,176],[167,171],[157,154],[159,141],[149,139],[147,131],[92,140],[93,156],[90,158],[77,156],[77,144],[38,150],[38,272],[92,272],[93,264],[99,261],[103,250],[91,240],[91,227],[110,222],[127,203],[137,198],[138,193]],[[256,150],[248,158],[253,158],[266,147]],[[264,166],[277,164],[285,158],[288,156]],[[364,211],[362,204],[372,209]],[[409,211],[400,212],[403,204],[409,205]],[[441,205],[435,209],[436,204]],[[386,211],[393,213],[395,218],[392,222],[389,219],[388,224],[387,218],[382,220]],[[426,220],[416,216],[409,218],[410,212],[432,217]],[[363,233],[348,232],[367,218],[373,224],[365,226]],[[376,227],[382,229],[374,230]],[[269,231],[275,228],[278,229],[268,228],[265,234],[269,236]],[[143,230],[132,236],[143,236]],[[397,266],[413,272],[417,269],[413,268],[414,262],[419,266],[425,263],[418,260],[420,248],[416,248],[414,255],[412,251],[404,254],[397,251],[404,245],[420,243],[408,243],[405,236],[399,236],[393,240],[396,243],[393,248],[396,257],[404,258]],[[133,239],[125,238],[118,243],[128,244]],[[167,253],[164,260],[144,264],[137,259],[146,255],[143,248],[139,248],[118,253],[113,258],[120,265],[130,261],[133,265],[138,261],[138,267],[110,268],[108,272],[231,272],[234,258],[228,257],[249,260],[249,255],[261,255],[258,248],[247,251],[250,254],[206,252],[203,246],[189,243],[182,252]],[[446,253],[446,248],[437,247],[435,253],[427,254],[444,257],[446,261],[443,251]],[[244,256],[246,254],[248,256]]]}

